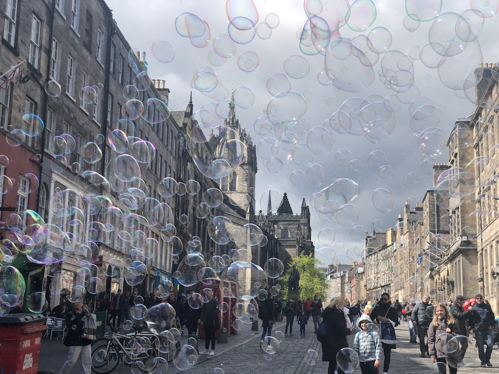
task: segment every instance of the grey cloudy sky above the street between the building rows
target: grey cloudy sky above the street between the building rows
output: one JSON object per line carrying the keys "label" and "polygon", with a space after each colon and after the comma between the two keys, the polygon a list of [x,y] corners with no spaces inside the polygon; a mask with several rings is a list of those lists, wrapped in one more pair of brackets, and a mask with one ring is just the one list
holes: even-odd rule
{"label": "grey cloudy sky above the street between the building rows", "polygon": [[[256,211],[266,209],[266,199],[258,205],[268,189],[287,192],[295,213],[305,197],[316,248],[332,248],[319,251],[324,262],[335,253],[340,261],[355,258],[352,247],[363,247],[373,221],[386,230],[406,200],[414,207],[423,198],[432,164],[447,159],[456,119],[474,110],[470,72],[499,56],[497,0],[351,0],[346,24],[348,0],[306,0],[307,12],[298,0],[232,0],[227,7],[223,0],[106,1],[130,45],[147,53],[151,78],[166,81],[172,109],[184,109],[190,91],[196,111],[221,87],[247,87],[236,91],[240,122],[254,144],[273,138],[258,145]],[[194,15],[179,17],[186,12]],[[202,47],[206,24],[211,38]],[[186,25],[196,38],[179,34]],[[171,62],[164,62],[172,57],[166,42],[175,49]],[[208,95],[191,87],[201,67],[218,76]],[[210,87],[205,77],[198,88]],[[264,115],[271,126],[257,121]],[[336,179],[354,183],[334,184],[327,203],[314,195]],[[349,200],[355,185],[358,196]]]}

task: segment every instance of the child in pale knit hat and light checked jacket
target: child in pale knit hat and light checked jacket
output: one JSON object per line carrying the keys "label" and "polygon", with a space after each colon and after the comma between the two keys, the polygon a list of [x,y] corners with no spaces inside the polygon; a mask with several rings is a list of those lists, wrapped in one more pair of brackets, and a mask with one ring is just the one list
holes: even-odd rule
{"label": "child in pale knit hat and light checked jacket", "polygon": [[360,331],[353,340],[353,350],[359,355],[362,374],[378,374],[381,357],[379,334],[369,328],[371,317],[362,314],[359,318]]}

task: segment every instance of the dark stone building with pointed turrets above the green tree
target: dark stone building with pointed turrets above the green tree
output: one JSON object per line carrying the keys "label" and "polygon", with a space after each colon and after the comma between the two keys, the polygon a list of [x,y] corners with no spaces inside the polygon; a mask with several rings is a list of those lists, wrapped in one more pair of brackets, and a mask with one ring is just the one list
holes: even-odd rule
{"label": "dark stone building with pointed turrets above the green tree", "polygon": [[268,208],[263,227],[271,228],[275,237],[284,245],[291,257],[299,256],[301,253],[308,255],[314,253],[312,234],[310,227],[310,210],[305,202],[301,201],[301,213],[293,214],[293,209],[284,192],[276,213],[272,213],[272,201],[268,195]]}

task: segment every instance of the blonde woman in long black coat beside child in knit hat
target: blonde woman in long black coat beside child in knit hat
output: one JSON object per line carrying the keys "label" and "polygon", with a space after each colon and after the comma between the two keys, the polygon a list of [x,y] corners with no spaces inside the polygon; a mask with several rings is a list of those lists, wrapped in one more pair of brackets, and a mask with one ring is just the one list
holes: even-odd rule
{"label": "blonde woman in long black coat beside child in knit hat", "polygon": [[350,335],[353,327],[346,327],[343,308],[346,306],[346,300],[337,296],[331,300],[326,309],[322,312],[322,318],[326,321],[327,338],[322,343],[322,361],[329,361],[327,374],[334,374],[337,369],[338,374],[344,374],[343,370],[336,368],[336,354],[342,349],[348,347],[346,339]]}

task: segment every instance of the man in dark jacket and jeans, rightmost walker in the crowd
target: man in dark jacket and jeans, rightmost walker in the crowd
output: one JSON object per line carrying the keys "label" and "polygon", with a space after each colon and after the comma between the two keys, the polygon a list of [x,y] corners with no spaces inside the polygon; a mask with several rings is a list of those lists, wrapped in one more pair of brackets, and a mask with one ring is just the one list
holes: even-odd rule
{"label": "man in dark jacket and jeans, rightmost walker in the crowd", "polygon": [[[473,306],[473,322],[475,322],[475,339],[478,345],[478,357],[482,362],[482,368],[491,367],[491,355],[494,348],[494,339],[492,336],[492,327],[494,326],[495,316],[489,304],[484,303],[484,297],[481,294],[475,296],[477,302]],[[487,344],[487,350],[484,352],[484,344]]]}

